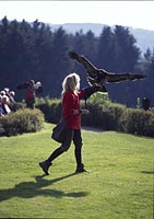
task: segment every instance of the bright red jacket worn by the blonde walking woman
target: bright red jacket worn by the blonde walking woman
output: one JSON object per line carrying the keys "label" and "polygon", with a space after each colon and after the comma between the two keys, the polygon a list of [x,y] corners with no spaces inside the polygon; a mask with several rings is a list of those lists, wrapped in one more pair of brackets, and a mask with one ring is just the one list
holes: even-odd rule
{"label": "bright red jacket worn by the blonde walking woman", "polygon": [[85,95],[84,91],[79,91],[76,94],[70,91],[63,95],[62,100],[62,118],[70,116],[67,127],[72,129],[81,129],[81,114],[73,114],[73,110],[80,110],[80,100]]}

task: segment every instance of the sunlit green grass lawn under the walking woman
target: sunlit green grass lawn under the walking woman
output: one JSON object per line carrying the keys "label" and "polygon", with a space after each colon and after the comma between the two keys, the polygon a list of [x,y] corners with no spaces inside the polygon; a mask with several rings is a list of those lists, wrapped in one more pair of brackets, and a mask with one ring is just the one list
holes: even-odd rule
{"label": "sunlit green grass lawn under the walking woman", "polygon": [[58,143],[52,125],[0,138],[0,217],[153,219],[154,139],[82,130],[83,161],[74,175],[73,145],[44,176],[38,162]]}

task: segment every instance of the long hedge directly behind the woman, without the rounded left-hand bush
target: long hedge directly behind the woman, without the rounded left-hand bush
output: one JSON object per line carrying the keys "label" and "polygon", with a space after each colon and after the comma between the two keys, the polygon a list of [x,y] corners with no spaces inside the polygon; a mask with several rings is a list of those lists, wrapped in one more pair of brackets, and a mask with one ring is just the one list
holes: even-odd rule
{"label": "long hedge directly behind the woman, without the rounded left-hand bush", "polygon": [[[85,107],[84,101],[81,102],[81,106]],[[43,111],[49,123],[58,123],[61,118],[60,100],[39,100],[37,107]],[[154,137],[154,111],[127,108],[98,94],[87,101],[87,107],[90,114],[82,115],[82,126]]]}

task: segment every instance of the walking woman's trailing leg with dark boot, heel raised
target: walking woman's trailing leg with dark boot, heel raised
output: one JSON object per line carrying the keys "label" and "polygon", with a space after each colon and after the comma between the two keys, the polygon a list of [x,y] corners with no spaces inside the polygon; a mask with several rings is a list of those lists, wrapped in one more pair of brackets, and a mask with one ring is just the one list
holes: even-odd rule
{"label": "walking woman's trailing leg with dark boot, heel raised", "polygon": [[52,164],[51,162],[70,148],[71,141],[72,141],[72,138],[73,138],[73,134],[74,134],[73,129],[67,129],[66,130],[66,138],[64,138],[64,141],[62,142],[62,145],[59,148],[57,148],[49,155],[49,158],[47,160],[39,163],[39,166],[43,169],[43,171],[46,173],[46,175],[49,175],[48,169]]}

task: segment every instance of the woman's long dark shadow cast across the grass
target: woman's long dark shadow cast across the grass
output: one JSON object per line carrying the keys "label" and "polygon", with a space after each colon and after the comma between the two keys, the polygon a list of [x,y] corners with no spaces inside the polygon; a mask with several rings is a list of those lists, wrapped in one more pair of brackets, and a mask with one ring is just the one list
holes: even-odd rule
{"label": "woman's long dark shadow cast across the grass", "polygon": [[34,176],[36,182],[22,182],[16,184],[13,188],[0,189],[0,201],[10,199],[12,197],[33,198],[35,196],[51,196],[56,198],[61,198],[67,196],[76,198],[87,196],[88,193],[85,192],[64,193],[62,191],[44,188],[48,185],[71,177],[73,175],[74,173],[54,178],[51,181],[46,180],[44,177],[45,175]]}

